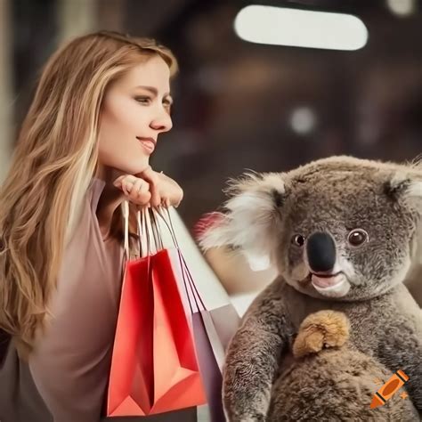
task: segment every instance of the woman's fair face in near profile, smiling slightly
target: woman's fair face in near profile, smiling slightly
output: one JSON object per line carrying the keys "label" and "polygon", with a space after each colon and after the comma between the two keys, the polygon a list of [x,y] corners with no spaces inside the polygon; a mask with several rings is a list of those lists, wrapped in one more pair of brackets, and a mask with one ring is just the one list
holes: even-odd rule
{"label": "woman's fair face in near profile, smiling slightly", "polygon": [[100,166],[141,173],[158,134],[172,128],[171,104],[170,69],[158,55],[111,83],[101,105]]}

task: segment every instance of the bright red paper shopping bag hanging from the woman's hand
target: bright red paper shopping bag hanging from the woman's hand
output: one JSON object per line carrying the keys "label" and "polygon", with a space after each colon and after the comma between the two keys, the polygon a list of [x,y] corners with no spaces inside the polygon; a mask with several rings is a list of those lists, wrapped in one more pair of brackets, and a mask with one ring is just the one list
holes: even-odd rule
{"label": "bright red paper shopping bag hanging from the woman's hand", "polygon": [[107,416],[147,416],[207,402],[166,249],[126,264]]}

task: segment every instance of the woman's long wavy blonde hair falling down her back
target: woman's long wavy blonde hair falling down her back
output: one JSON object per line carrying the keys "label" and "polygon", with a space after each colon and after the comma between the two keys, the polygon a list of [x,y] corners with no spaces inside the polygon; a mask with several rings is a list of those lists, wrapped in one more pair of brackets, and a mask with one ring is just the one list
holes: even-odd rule
{"label": "woman's long wavy blonde hair falling down her back", "polygon": [[0,329],[28,353],[44,327],[66,242],[98,158],[101,101],[113,80],[159,55],[146,38],[98,32],[63,45],[46,63],[0,191]]}

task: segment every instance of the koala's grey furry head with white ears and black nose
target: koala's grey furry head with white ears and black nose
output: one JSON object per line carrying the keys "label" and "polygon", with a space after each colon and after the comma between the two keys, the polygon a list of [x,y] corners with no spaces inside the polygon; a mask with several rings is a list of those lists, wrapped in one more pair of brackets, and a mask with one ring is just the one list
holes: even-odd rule
{"label": "koala's grey furry head with white ears and black nose", "polygon": [[203,248],[268,257],[314,297],[361,300],[402,282],[420,236],[422,169],[348,157],[231,183],[223,219]]}

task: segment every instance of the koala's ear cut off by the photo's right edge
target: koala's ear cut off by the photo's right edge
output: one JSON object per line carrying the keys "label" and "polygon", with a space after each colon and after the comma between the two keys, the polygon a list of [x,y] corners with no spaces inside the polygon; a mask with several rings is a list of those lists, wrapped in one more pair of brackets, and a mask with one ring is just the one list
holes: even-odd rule
{"label": "koala's ear cut off by the photo's right edge", "polygon": [[422,215],[422,174],[394,174],[385,183],[384,191],[389,198],[404,201]]}

